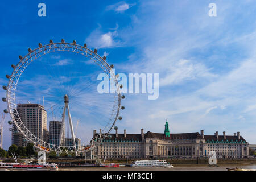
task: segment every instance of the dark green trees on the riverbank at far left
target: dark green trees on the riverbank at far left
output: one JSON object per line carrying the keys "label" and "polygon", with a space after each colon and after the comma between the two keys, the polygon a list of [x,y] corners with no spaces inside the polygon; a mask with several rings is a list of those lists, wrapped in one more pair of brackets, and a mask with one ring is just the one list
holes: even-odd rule
{"label": "dark green trees on the riverbank at far left", "polygon": [[16,156],[27,157],[31,155],[36,155],[36,152],[34,151],[34,144],[28,143],[26,147],[18,147],[15,144],[12,144],[8,151],[5,151],[3,149],[0,149],[0,157],[2,158],[9,158],[13,157],[11,154],[15,154]]}

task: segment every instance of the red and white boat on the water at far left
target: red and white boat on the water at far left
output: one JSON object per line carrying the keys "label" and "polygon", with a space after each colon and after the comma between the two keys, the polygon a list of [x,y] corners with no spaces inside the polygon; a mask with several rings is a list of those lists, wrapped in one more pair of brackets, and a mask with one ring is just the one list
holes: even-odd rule
{"label": "red and white boat on the water at far left", "polygon": [[57,164],[37,163],[37,164],[13,164],[6,168],[9,171],[58,171]]}

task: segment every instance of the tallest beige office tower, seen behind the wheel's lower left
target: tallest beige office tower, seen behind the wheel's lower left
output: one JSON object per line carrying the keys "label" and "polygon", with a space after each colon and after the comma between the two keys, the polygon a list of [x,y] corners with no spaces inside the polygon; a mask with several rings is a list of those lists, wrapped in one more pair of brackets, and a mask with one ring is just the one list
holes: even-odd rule
{"label": "tallest beige office tower, seen behind the wheel's lower left", "polygon": [[[18,104],[17,111],[27,129],[39,139],[48,141],[47,112],[39,104]],[[13,125],[12,144],[27,146],[26,138]]]}

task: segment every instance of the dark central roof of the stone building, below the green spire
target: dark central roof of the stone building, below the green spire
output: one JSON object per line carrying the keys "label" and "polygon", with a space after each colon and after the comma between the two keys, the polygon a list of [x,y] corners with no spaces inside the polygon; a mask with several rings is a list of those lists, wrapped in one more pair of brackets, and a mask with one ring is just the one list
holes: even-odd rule
{"label": "dark central roof of the stone building, below the green spire", "polygon": [[198,133],[175,133],[170,134],[170,137],[166,137],[164,133],[153,133],[148,131],[144,134],[144,138],[158,138],[158,139],[203,139],[203,137]]}

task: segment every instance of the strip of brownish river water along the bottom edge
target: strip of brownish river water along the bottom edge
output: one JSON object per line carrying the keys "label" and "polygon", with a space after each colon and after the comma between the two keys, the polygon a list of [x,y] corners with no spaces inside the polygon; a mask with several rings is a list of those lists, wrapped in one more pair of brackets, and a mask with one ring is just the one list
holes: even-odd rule
{"label": "strip of brownish river water along the bottom edge", "polygon": [[256,169],[256,164],[219,164],[210,167],[207,164],[174,164],[174,168],[164,167],[72,167],[59,168],[59,171],[226,171],[226,168],[241,167],[243,169]]}

